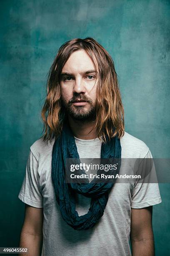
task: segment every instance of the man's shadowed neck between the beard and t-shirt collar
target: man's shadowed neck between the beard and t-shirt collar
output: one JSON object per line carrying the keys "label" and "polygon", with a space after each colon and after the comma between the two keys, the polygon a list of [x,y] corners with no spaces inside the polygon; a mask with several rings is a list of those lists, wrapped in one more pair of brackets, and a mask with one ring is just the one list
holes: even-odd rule
{"label": "man's shadowed neck between the beard and t-shirt collar", "polygon": [[68,116],[70,128],[76,138],[82,140],[92,140],[97,138],[95,121],[79,121]]}

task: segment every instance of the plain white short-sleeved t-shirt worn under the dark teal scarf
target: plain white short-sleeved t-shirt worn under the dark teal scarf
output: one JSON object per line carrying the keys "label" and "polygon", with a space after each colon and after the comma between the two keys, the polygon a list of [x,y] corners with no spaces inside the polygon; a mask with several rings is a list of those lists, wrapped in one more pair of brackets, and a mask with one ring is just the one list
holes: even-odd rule
{"label": "plain white short-sleeved t-shirt worn under the dark teal scarf", "polygon": [[[75,138],[80,158],[100,158],[101,141]],[[148,146],[125,132],[120,138],[122,158],[152,158]],[[43,207],[42,256],[130,256],[130,216],[132,208],[159,204],[157,183],[115,183],[109,193],[104,215],[89,230],[74,230],[62,219],[51,178],[54,139],[42,138],[30,147],[25,178],[19,199],[33,207]],[[76,210],[88,212],[90,198],[76,194]]]}

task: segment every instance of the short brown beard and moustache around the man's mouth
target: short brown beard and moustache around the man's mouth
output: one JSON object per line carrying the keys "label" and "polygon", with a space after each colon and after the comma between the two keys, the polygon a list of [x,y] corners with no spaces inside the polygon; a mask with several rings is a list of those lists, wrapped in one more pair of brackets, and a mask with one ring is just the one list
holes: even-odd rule
{"label": "short brown beard and moustache around the man's mouth", "polygon": [[[72,105],[74,101],[77,99],[84,100],[88,102],[88,109],[85,106],[75,106]],[[65,113],[70,115],[74,120],[77,121],[94,121],[96,119],[96,108],[95,104],[93,104],[92,100],[85,95],[73,95],[72,99],[66,102],[62,98],[62,106],[65,109]]]}

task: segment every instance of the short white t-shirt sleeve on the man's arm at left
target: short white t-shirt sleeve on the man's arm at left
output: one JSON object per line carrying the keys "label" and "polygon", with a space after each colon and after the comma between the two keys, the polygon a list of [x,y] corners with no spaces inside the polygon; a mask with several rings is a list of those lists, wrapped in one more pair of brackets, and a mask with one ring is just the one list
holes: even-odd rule
{"label": "short white t-shirt sleeve on the man's arm at left", "polygon": [[30,150],[25,177],[18,198],[33,207],[43,207],[43,197],[39,187],[38,161]]}

